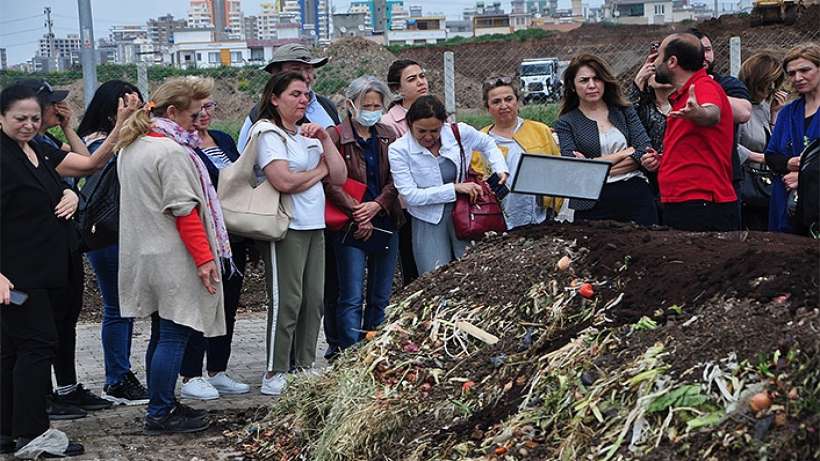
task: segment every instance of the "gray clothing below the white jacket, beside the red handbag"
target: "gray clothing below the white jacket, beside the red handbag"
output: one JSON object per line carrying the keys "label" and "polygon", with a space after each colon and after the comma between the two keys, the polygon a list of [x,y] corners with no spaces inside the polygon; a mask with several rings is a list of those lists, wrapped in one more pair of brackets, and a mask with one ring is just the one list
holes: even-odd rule
{"label": "gray clothing below the white jacket, beside the red handbag", "polygon": [[454,206],[454,203],[444,206],[444,216],[438,224],[430,224],[411,216],[413,257],[416,258],[419,275],[432,272],[464,255],[470,242],[456,237],[452,218]]}

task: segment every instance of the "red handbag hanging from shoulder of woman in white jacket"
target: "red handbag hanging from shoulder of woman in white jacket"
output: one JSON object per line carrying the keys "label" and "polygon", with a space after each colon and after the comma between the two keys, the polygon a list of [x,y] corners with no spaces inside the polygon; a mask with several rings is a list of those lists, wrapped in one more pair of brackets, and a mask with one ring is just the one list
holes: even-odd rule
{"label": "red handbag hanging from shoulder of woman in white jacket", "polygon": [[[461,133],[458,131],[458,124],[452,123],[453,135],[461,149],[461,166],[459,182],[472,182],[481,186],[482,194],[475,203],[470,202],[470,196],[466,194],[456,195],[456,205],[453,207],[453,226],[456,237],[461,240],[481,240],[487,232],[502,233],[507,230],[507,223],[504,221],[504,211],[501,204],[495,197],[487,181],[481,179],[468,163],[468,158],[461,144]],[[466,174],[465,174],[466,172]],[[464,177],[466,176],[466,178]]]}

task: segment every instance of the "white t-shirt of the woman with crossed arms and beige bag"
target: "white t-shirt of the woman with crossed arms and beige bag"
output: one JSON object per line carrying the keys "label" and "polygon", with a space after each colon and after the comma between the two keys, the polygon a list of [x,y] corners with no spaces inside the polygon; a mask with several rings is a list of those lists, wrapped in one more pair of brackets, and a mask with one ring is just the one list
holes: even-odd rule
{"label": "white t-shirt of the woman with crossed arms and beige bag", "polygon": [[[265,168],[274,160],[287,160],[288,169],[293,172],[310,171],[319,165],[322,157],[322,143],[317,139],[295,136],[279,130],[285,136],[274,132],[262,133],[257,141],[256,166]],[[317,182],[310,189],[291,194],[293,199],[293,219],[288,229],[315,230],[325,228],[325,190]]]}

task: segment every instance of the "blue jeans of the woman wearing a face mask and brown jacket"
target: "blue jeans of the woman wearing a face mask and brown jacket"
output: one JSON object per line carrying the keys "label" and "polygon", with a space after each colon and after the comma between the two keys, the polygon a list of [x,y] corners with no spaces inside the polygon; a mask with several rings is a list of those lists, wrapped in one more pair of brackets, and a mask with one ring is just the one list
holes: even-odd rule
{"label": "blue jeans of the woman wearing a face mask and brown jacket", "polygon": [[[337,340],[346,349],[384,321],[384,308],[390,301],[393,274],[399,254],[398,232],[390,240],[387,252],[366,253],[364,250],[333,241],[339,277],[339,301],[336,306]],[[365,287],[365,268],[367,286]],[[365,288],[367,304],[365,303]]]}

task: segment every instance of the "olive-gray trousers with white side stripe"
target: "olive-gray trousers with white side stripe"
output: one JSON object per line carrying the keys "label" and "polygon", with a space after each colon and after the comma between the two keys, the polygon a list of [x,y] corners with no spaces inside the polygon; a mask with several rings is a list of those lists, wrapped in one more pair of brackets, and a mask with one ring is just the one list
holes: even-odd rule
{"label": "olive-gray trousers with white side stripe", "polygon": [[266,250],[262,254],[270,299],[267,371],[286,373],[291,355],[296,368],[309,368],[316,360],[322,324],[324,231],[289,229],[284,239]]}

